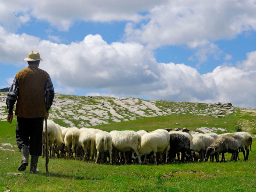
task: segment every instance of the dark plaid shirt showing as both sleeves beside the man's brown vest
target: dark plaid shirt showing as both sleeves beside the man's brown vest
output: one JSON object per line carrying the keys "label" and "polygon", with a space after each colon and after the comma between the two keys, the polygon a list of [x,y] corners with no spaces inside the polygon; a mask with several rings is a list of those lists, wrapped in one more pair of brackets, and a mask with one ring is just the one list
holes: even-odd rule
{"label": "dark plaid shirt showing as both sleeves beside the man's brown vest", "polygon": [[[50,77],[48,77],[46,83],[45,83],[45,107],[46,107],[46,112],[49,113],[49,109],[52,106],[52,101],[54,98],[54,89],[52,85],[52,80]],[[12,86],[10,87],[10,90],[7,94],[6,98],[6,105],[8,109],[8,115],[13,115],[13,106],[17,100],[19,94],[19,83],[17,78],[15,77],[12,83]]]}

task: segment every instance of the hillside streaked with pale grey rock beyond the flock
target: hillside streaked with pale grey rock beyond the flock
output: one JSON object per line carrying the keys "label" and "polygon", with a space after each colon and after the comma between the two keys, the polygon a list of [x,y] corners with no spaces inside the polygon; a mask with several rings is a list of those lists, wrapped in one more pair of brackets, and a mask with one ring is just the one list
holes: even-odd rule
{"label": "hillside streaked with pale grey rock beyond the flock", "polygon": [[[6,95],[0,92],[0,120],[6,119]],[[93,125],[122,122],[143,117],[195,114],[225,117],[235,113],[231,103],[206,104],[113,98],[99,96],[72,96],[55,94],[49,119],[62,121],[65,126],[90,127]],[[249,110],[249,109],[248,109]]]}

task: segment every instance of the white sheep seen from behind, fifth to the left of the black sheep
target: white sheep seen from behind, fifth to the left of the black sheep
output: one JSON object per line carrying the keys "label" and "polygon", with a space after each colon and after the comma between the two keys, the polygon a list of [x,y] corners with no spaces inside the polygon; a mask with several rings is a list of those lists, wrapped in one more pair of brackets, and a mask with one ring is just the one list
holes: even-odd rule
{"label": "white sheep seen from behind, fifth to the left of the black sheep", "polygon": [[79,138],[80,131],[76,127],[70,127],[68,128],[65,138],[64,138],[64,143],[65,143],[65,150],[68,153],[68,157],[72,158],[73,153],[75,153],[77,141]]}

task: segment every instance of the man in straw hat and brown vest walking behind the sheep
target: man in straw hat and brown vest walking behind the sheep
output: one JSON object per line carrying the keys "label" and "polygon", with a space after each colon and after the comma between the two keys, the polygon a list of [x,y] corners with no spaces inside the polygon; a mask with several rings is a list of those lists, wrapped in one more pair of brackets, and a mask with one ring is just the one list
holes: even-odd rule
{"label": "man in straw hat and brown vest walking behind the sheep", "polygon": [[7,94],[7,121],[12,123],[13,106],[17,100],[16,141],[21,153],[21,164],[18,170],[26,170],[30,154],[29,172],[36,173],[38,157],[42,155],[43,123],[49,116],[54,89],[49,74],[38,68],[40,61],[43,60],[38,51],[29,52],[24,60],[28,61],[28,67],[16,74]]}

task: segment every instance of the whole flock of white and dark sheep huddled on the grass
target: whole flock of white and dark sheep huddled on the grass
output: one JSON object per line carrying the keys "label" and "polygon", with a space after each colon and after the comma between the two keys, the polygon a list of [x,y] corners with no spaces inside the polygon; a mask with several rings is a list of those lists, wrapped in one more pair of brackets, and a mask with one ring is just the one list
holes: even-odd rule
{"label": "whole flock of white and dark sheep huddled on the grass", "polygon": [[[236,161],[242,151],[244,161],[252,151],[252,136],[247,132],[197,133],[187,128],[179,131],[157,129],[152,132],[111,131],[94,128],[62,127],[47,121],[49,156],[76,158],[95,163],[168,163],[175,161],[225,161],[224,154],[232,153]],[[246,154],[245,151],[246,150]],[[45,155],[45,124],[43,129],[43,157]]]}

